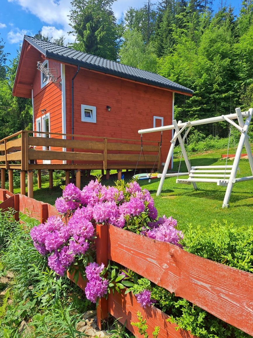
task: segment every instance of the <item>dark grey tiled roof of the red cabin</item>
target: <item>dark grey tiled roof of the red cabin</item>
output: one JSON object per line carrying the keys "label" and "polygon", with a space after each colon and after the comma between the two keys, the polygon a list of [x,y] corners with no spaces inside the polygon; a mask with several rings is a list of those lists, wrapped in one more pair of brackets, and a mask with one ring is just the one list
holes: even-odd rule
{"label": "dark grey tiled roof of the red cabin", "polygon": [[166,79],[165,77],[155,73],[122,65],[118,62],[104,59],[103,57],[80,52],[78,50],[67,48],[65,46],[59,46],[52,42],[38,40],[33,37],[28,37],[27,35],[25,35],[24,39],[48,58],[74,65],[79,65],[84,68],[116,75],[135,81],[153,84],[155,86],[163,88],[168,88],[189,94],[193,93],[192,90],[184,86],[180,86],[180,84],[170,81],[169,79]]}

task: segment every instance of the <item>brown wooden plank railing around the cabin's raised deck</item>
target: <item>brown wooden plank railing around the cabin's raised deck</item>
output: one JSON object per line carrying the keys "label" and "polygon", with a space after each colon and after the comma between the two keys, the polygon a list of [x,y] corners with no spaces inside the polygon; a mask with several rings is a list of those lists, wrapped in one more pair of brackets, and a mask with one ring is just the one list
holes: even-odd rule
{"label": "brown wooden plank railing around the cabin's raised deck", "polygon": [[[155,162],[156,168],[161,165],[160,143],[155,141],[143,142],[144,155],[143,153],[140,155],[140,140],[53,132],[43,132],[39,137],[29,136],[29,134],[37,135],[35,131],[21,130],[0,141],[1,168],[36,169],[43,164],[43,161],[48,160],[54,161],[54,165],[58,166],[62,166],[62,161],[66,161],[68,167],[79,165],[79,169],[106,170],[118,168],[119,165],[123,165],[124,169],[130,169],[138,160],[139,167],[143,168],[145,166],[151,168]],[[36,148],[33,149],[33,146]]]}

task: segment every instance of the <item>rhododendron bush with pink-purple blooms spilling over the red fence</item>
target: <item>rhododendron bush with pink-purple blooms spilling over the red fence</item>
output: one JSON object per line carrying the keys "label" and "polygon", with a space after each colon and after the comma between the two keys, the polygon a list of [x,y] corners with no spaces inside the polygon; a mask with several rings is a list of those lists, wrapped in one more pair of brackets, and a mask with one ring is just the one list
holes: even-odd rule
{"label": "rhododendron bush with pink-purple blooms spilling over the red fence", "polygon": [[[34,226],[30,232],[35,248],[41,255],[47,255],[49,267],[57,274],[62,276],[66,270],[85,268],[83,275],[88,280],[85,294],[93,303],[106,295],[111,287],[118,291],[125,286],[131,287],[137,278],[127,269],[120,270],[110,264],[105,268],[94,262],[96,223],[112,224],[180,247],[179,241],[183,238],[175,219],[157,218],[157,209],[148,190],[141,189],[135,181],[125,184],[120,180],[115,184],[115,187],[102,186],[96,179],[83,190],[68,184],[62,197],[55,202],[60,216],[49,217],[47,222]],[[144,289],[136,296],[142,306],[152,304],[149,290]]]}

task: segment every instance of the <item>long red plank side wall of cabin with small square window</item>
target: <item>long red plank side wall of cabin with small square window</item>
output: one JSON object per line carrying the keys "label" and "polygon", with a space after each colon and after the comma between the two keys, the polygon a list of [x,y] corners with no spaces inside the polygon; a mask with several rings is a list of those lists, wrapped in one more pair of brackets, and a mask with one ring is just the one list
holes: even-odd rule
{"label": "long red plank side wall of cabin with small square window", "polygon": [[[65,65],[66,132],[71,134],[71,79],[77,68]],[[96,107],[96,123],[81,121],[81,104]],[[111,107],[108,112],[106,106]],[[172,92],[80,69],[74,80],[74,134],[140,140],[139,129],[152,128],[153,116],[172,124]],[[161,126],[157,125],[157,126]],[[161,133],[144,134],[143,140],[160,142]],[[165,162],[171,130],[163,133]]]}

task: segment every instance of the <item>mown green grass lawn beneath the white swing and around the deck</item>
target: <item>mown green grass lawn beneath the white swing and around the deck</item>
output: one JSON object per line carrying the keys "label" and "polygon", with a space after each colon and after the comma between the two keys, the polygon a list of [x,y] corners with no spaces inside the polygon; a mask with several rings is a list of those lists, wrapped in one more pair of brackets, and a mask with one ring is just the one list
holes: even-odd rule
{"label": "mown green grass lawn beneath the white swing and around the deck", "polygon": [[[202,154],[195,154],[190,157],[191,165],[225,165],[225,160],[221,160],[221,154],[226,153],[226,149],[215,150]],[[231,148],[230,153],[234,153]],[[228,161],[231,165],[233,161]],[[173,171],[178,170],[179,159],[174,159]],[[182,161],[180,171],[187,171],[185,162]],[[101,173],[93,171],[91,174]],[[117,179],[116,171],[112,171],[113,175],[110,180],[105,178],[102,184],[113,185]],[[126,181],[131,179],[133,172],[123,172]],[[251,170],[248,160],[240,161],[240,173],[237,176],[251,175]],[[184,176],[181,178],[184,178]],[[185,177],[187,178],[187,176]],[[83,185],[88,181],[84,181]],[[156,196],[159,179],[153,179],[150,183],[147,180],[139,181],[139,184],[150,191],[155,201],[155,206],[158,209],[158,214],[172,216],[178,221],[179,228],[184,230],[187,224],[192,223],[201,225],[203,229],[207,229],[209,225],[218,220],[228,220],[229,223],[234,223],[235,226],[241,224],[252,224],[253,210],[253,181],[237,183],[233,187],[230,197],[230,208],[223,209],[222,202],[225,195],[226,187],[219,187],[216,184],[197,183],[198,190],[194,191],[192,185],[176,184],[176,177],[166,178],[163,190],[160,196]],[[15,189],[15,193],[20,192]],[[37,189],[34,184],[34,198],[50,204],[54,204],[57,197],[61,196],[62,190],[59,187],[54,187],[49,190],[48,176],[44,177],[44,183],[41,184],[41,189]]]}

